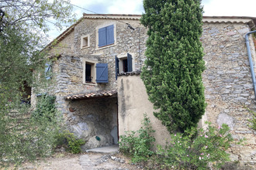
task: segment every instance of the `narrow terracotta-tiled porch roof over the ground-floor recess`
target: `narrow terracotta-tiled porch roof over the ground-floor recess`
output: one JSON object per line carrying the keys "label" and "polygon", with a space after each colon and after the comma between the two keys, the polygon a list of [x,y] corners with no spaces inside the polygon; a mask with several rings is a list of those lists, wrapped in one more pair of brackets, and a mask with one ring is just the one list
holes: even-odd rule
{"label": "narrow terracotta-tiled porch roof over the ground-floor recess", "polygon": [[114,97],[116,94],[117,90],[98,90],[95,92],[71,94],[64,98],[65,100],[81,100],[95,97]]}

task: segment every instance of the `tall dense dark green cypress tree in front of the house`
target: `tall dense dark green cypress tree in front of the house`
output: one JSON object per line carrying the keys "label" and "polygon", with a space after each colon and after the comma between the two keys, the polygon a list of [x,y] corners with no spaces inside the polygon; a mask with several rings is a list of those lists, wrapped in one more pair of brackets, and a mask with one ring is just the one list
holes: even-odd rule
{"label": "tall dense dark green cypress tree in front of the house", "polygon": [[141,23],[148,28],[141,73],[154,116],[168,131],[197,125],[205,112],[202,71],[202,8],[197,0],[144,0]]}

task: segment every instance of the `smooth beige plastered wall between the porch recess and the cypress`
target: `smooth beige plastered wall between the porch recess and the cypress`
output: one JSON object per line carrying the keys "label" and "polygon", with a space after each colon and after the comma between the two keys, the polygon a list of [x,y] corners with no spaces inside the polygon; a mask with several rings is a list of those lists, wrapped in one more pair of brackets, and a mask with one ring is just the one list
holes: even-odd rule
{"label": "smooth beige plastered wall between the porch recess and the cypress", "polygon": [[170,134],[161,121],[154,117],[153,104],[147,100],[146,88],[140,76],[119,76],[117,82],[119,135],[125,134],[125,131],[139,130],[144,114],[147,114],[156,131],[154,149],[156,145],[164,145],[170,139]]}

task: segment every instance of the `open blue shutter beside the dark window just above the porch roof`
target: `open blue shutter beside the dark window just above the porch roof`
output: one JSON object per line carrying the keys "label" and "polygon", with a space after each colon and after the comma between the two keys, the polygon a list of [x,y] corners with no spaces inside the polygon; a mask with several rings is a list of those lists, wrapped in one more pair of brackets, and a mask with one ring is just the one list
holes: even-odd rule
{"label": "open blue shutter beside the dark window just above the porch roof", "polygon": [[96,83],[109,83],[107,63],[96,63]]}

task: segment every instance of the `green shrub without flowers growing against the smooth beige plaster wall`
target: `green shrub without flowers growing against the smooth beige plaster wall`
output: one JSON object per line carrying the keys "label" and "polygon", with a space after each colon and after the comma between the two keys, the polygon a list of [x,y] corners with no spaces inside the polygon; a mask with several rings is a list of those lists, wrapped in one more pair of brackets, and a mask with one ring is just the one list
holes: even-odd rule
{"label": "green shrub without flowers growing against the smooth beige plaster wall", "polygon": [[119,151],[132,156],[132,162],[145,162],[154,155],[152,142],[155,141],[154,130],[150,124],[147,114],[144,114],[142,127],[138,131],[126,131],[126,135],[120,136]]}

